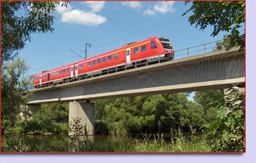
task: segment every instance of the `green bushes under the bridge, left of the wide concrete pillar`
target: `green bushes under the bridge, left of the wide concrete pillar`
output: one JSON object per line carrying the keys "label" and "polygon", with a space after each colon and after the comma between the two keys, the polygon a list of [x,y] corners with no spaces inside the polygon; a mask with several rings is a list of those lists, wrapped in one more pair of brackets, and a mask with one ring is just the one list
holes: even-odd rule
{"label": "green bushes under the bridge, left of the wide concrete pillar", "polygon": [[[24,113],[25,111],[23,111]],[[23,114],[16,116],[15,123],[10,133],[13,134],[68,134],[68,104],[53,103],[42,104],[36,114]]]}

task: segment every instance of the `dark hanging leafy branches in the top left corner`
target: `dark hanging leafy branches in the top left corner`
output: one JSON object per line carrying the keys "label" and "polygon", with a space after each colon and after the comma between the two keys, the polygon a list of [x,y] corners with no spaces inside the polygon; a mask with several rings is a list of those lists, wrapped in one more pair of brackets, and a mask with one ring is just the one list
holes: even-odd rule
{"label": "dark hanging leafy branches in the top left corner", "polygon": [[31,41],[31,33],[53,32],[57,4],[59,1],[1,1],[1,65],[18,55],[26,41]]}

